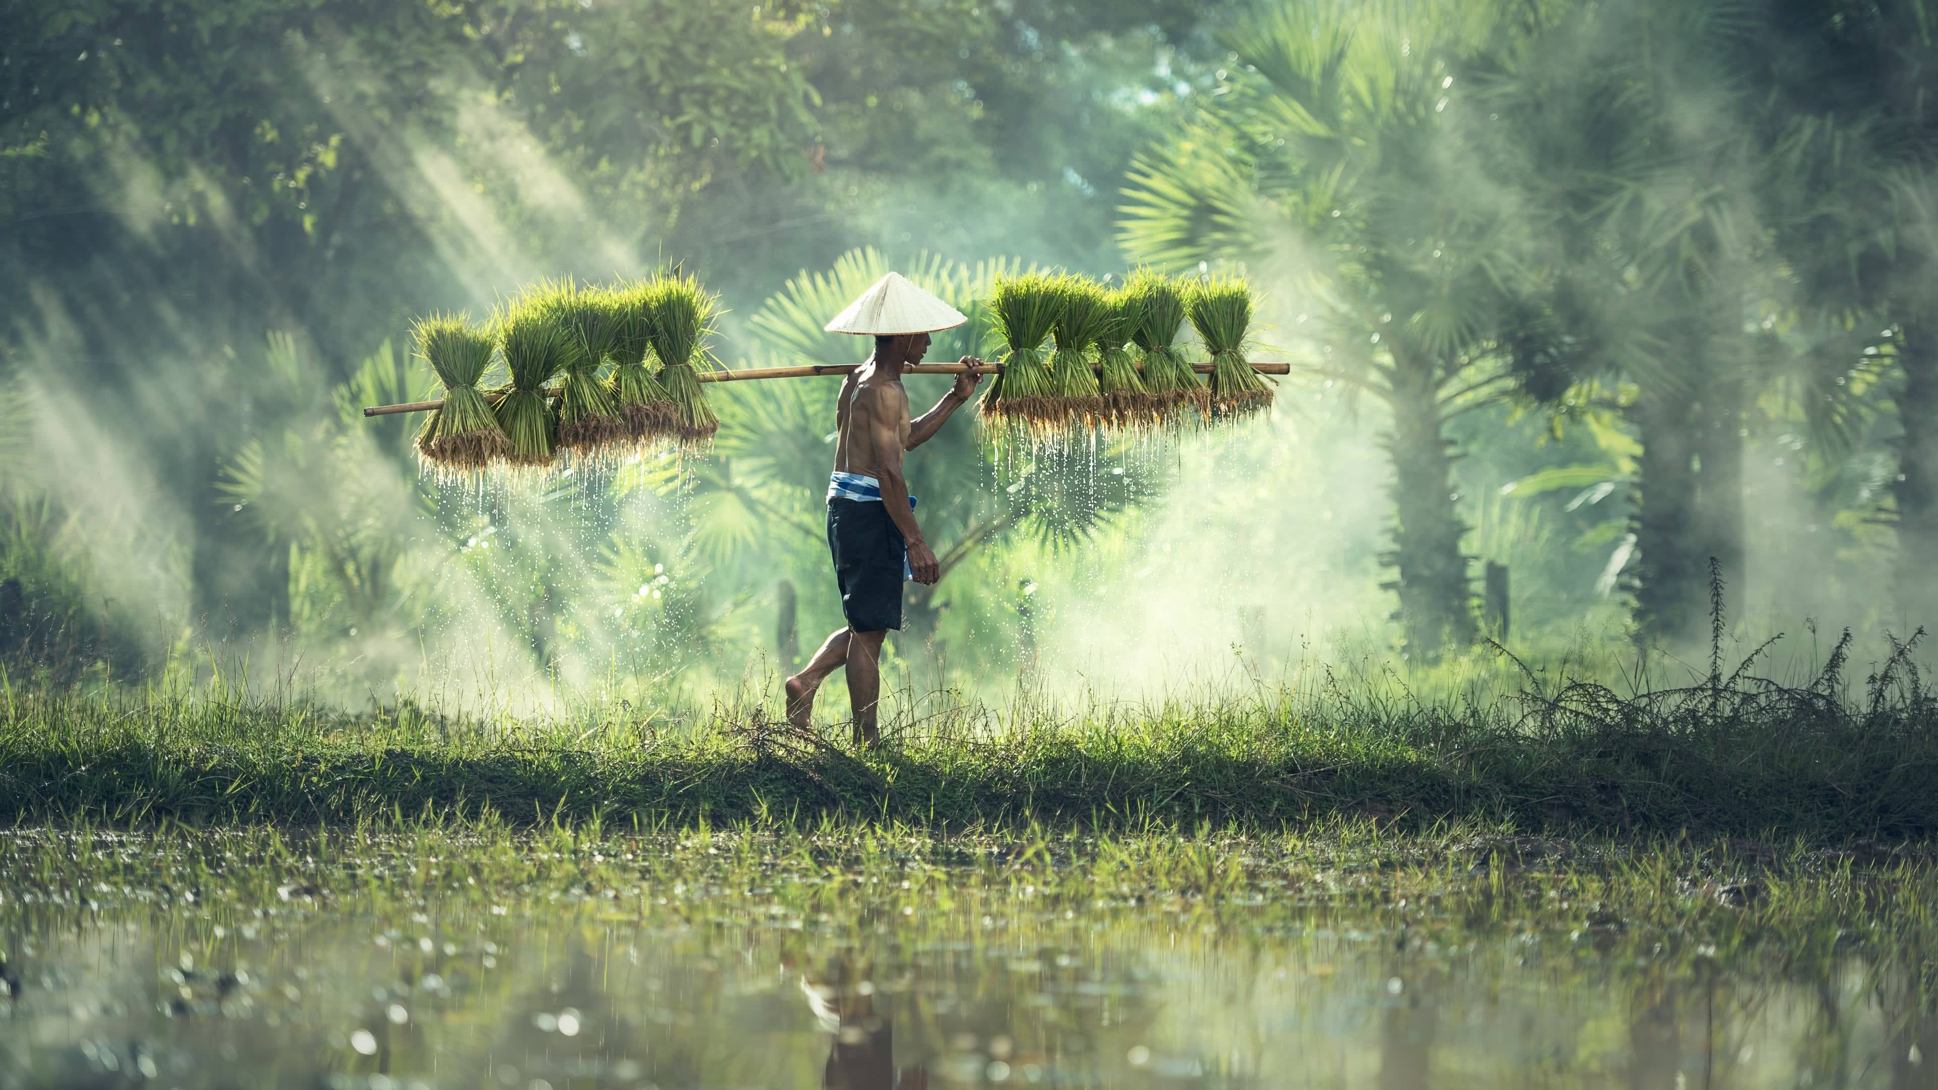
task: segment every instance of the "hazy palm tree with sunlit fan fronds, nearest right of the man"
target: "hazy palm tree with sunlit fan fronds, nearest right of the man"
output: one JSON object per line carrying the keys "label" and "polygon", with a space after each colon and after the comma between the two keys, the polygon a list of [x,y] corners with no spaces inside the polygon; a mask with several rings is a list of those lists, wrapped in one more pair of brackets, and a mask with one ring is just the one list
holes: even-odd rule
{"label": "hazy palm tree with sunlit fan fronds, nearest right of the man", "polygon": [[[1165,266],[1246,262],[1302,291],[1306,374],[1391,413],[1390,584],[1411,656],[1475,634],[1448,423],[1506,388],[1496,326],[1523,223],[1473,184],[1461,81],[1514,48],[1494,4],[1287,0],[1240,19],[1211,103],[1130,175],[1124,248]],[[1481,122],[1485,124],[1485,122]]]}

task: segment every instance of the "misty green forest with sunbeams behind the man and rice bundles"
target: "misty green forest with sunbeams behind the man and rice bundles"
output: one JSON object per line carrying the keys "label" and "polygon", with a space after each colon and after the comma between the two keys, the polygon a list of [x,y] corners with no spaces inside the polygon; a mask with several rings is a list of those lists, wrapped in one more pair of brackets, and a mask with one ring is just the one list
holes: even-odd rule
{"label": "misty green forest with sunbeams behind the man and rice bundles", "polygon": [[1262,287],[1271,421],[1012,469],[961,419],[913,458],[946,572],[893,642],[915,694],[1481,661],[1488,562],[1535,663],[1704,657],[1711,561],[1744,638],[1882,648],[1938,603],[1934,31],[1915,0],[14,4],[0,661],[353,704],[766,683],[839,625],[835,382],[713,390],[709,458],[541,487],[438,485],[359,413],[432,392],[417,314],[663,262],[723,295],[733,367],[860,359],[820,324],[888,268],[965,308],[1023,266]]}

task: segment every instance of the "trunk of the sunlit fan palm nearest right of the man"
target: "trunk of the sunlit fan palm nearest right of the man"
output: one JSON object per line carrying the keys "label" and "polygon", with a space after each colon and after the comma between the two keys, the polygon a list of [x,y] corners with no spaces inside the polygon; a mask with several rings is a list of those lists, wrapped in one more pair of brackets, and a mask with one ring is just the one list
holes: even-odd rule
{"label": "trunk of the sunlit fan palm nearest right of the man", "polygon": [[1399,570],[1384,584],[1399,595],[1395,615],[1405,630],[1407,657],[1430,663],[1450,644],[1475,638],[1467,557],[1454,497],[1454,442],[1442,431],[1434,367],[1401,359],[1393,369],[1393,549],[1382,559]]}

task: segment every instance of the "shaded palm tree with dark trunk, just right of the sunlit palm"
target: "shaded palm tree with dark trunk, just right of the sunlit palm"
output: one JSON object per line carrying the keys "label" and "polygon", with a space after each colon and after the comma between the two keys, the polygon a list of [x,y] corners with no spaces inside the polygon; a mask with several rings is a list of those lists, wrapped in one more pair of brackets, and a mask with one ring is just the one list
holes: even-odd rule
{"label": "shaded palm tree with dark trunk, just right of the sunlit palm", "polygon": [[[1767,355],[1744,320],[1764,264],[1750,62],[1738,0],[1585,6],[1488,80],[1496,176],[1537,225],[1541,272],[1504,328],[1521,394],[1620,409],[1636,471],[1638,636],[1686,638],[1709,559],[1738,582],[1744,411]],[[1616,394],[1620,392],[1620,394]]]}

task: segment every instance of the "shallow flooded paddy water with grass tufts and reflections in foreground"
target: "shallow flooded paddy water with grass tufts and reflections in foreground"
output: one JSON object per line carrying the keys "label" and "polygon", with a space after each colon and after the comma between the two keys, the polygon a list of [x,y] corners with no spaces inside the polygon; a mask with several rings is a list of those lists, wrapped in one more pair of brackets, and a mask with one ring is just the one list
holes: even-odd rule
{"label": "shallow flooded paddy water with grass tufts and reflections in foreground", "polygon": [[1855,946],[1758,943],[1704,888],[1688,921],[1643,923],[1609,904],[1477,912],[1574,888],[1543,873],[1514,877],[1525,902],[1498,884],[1409,902],[1405,879],[1289,865],[1213,898],[965,851],[632,842],[531,846],[525,863],[500,848],[479,865],[421,844],[256,848],[213,867],[141,842],[68,867],[45,846],[0,855],[0,1086],[1686,1090],[1938,1074],[1915,974]]}

